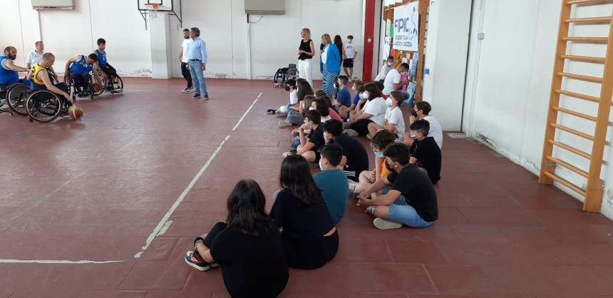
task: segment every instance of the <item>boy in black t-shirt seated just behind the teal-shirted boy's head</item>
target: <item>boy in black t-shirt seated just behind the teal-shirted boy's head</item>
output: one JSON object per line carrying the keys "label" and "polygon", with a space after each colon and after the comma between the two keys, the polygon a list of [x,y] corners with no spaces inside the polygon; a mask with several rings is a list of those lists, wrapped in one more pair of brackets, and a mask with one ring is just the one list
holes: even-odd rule
{"label": "boy in black t-shirt seated just behind the teal-shirted boy's head", "polygon": [[[304,135],[304,130],[310,129],[308,138]],[[296,148],[296,153],[302,155],[309,163],[319,163],[319,147],[326,145],[324,140],[324,128],[321,127],[321,114],[316,110],[306,112],[304,124],[298,129],[300,145]]]}

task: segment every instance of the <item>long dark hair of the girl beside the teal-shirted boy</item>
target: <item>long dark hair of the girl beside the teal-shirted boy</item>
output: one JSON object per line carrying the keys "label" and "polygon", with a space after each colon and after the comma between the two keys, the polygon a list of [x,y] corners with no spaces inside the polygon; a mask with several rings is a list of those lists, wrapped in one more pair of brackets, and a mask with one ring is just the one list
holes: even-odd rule
{"label": "long dark hair of the girl beside the teal-shirted boy", "polygon": [[299,206],[314,205],[317,198],[321,197],[321,190],[315,184],[309,165],[302,155],[287,155],[283,159],[279,184],[292,192]]}

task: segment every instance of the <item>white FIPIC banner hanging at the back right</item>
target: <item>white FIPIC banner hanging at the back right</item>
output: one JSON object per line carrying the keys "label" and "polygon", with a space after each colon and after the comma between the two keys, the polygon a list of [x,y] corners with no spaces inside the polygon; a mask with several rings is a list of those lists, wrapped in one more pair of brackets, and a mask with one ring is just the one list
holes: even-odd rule
{"label": "white FIPIC banner hanging at the back right", "polygon": [[393,48],[402,51],[418,51],[419,1],[393,9]]}

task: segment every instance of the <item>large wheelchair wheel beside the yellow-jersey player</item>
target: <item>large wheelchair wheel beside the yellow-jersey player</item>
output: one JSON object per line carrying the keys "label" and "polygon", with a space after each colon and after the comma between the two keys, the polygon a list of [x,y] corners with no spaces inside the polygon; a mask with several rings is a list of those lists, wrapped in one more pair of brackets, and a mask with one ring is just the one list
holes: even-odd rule
{"label": "large wheelchair wheel beside the yellow-jersey player", "polygon": [[26,111],[31,120],[51,122],[58,118],[63,106],[63,99],[48,90],[34,91],[26,101]]}

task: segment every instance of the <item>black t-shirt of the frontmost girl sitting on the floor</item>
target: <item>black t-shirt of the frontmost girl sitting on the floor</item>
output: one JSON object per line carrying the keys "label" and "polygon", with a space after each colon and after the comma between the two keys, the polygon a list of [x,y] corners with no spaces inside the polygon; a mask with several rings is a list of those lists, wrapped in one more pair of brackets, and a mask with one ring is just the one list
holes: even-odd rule
{"label": "black t-shirt of the frontmost girl sitting on the floor", "polygon": [[259,237],[227,227],[210,252],[232,297],[277,297],[285,289],[289,271],[277,226]]}

